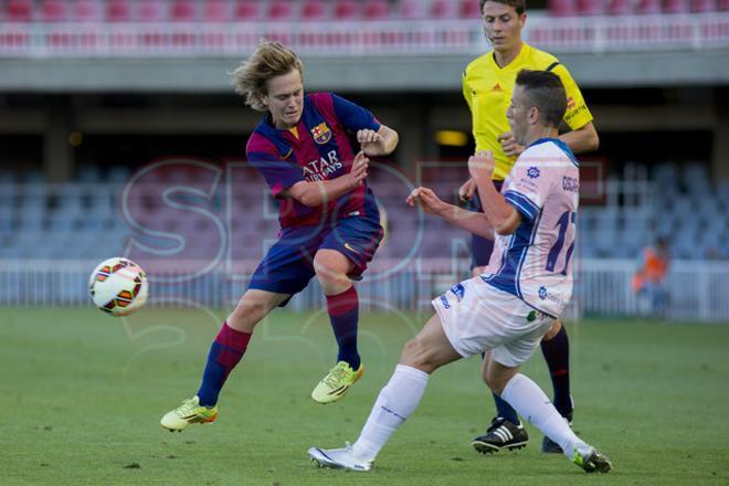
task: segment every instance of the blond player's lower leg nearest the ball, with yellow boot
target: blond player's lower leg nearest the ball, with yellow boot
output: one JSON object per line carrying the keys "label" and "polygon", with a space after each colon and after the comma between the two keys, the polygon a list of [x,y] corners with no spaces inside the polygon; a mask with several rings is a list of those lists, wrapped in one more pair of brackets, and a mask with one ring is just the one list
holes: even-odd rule
{"label": "blond player's lower leg nearest the ball, with yellow boot", "polygon": [[210,346],[198,393],[162,416],[160,425],[181,432],[192,423],[209,423],[218,416],[218,395],[230,372],[241,361],[253,328],[288,295],[249,289],[228,317]]}

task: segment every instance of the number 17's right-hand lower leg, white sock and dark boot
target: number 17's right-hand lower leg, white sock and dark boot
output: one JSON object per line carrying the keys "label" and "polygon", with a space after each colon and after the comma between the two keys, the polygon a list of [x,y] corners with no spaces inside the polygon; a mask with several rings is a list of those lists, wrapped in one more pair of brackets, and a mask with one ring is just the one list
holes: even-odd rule
{"label": "number 17's right-hand lower leg, white sock and dark boot", "polygon": [[610,459],[580,440],[537,383],[519,373],[519,367],[507,367],[489,356],[484,362],[484,381],[529,423],[550,437],[564,455],[588,473],[608,473]]}

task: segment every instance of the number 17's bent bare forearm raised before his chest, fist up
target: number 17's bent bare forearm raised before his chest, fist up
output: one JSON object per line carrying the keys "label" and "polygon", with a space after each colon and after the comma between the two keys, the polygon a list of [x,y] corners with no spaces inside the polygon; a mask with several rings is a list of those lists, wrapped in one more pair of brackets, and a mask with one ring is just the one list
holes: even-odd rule
{"label": "number 17's bent bare forearm raised before his chest, fist up", "polygon": [[494,154],[490,150],[479,151],[468,158],[468,172],[476,182],[480,205],[490,225],[497,234],[513,234],[521,223],[521,215],[494,187]]}

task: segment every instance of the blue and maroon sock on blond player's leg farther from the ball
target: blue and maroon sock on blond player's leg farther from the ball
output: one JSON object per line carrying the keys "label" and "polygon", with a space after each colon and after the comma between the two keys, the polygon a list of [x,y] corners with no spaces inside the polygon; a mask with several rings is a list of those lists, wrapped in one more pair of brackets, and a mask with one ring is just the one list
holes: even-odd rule
{"label": "blue and maroon sock on blond player's leg farther from the ball", "polygon": [[339,345],[338,361],[346,361],[357,371],[360,364],[357,351],[357,323],[359,320],[359,298],[352,285],[337,295],[327,295],[327,310],[331,320],[337,345]]}

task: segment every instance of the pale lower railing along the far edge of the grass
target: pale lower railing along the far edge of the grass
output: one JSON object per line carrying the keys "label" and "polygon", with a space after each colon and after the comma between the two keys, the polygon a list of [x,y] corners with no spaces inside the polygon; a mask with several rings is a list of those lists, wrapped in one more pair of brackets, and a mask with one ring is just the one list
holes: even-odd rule
{"label": "pale lower railing along the far edge of the grass", "polygon": [[[86,306],[88,275],[97,262],[64,260],[0,260],[0,305],[2,306]],[[167,265],[170,262],[166,262]],[[414,261],[409,270],[395,272],[372,283],[358,285],[366,310],[425,310],[430,300],[467,276],[467,260],[455,267],[447,258],[427,264]],[[382,261],[372,268],[397,265]],[[641,315],[638,298],[631,281],[633,260],[582,258],[575,270],[572,302],[566,311],[571,319],[583,316],[632,317]],[[245,277],[231,278],[216,268],[193,279],[160,282],[176,274],[150,274],[149,305],[176,307],[180,304],[221,307],[234,305],[245,288]],[[666,317],[691,321],[729,321],[729,262],[674,261],[668,275],[669,307]],[[310,310],[326,305],[316,282],[299,295],[293,310]]]}

